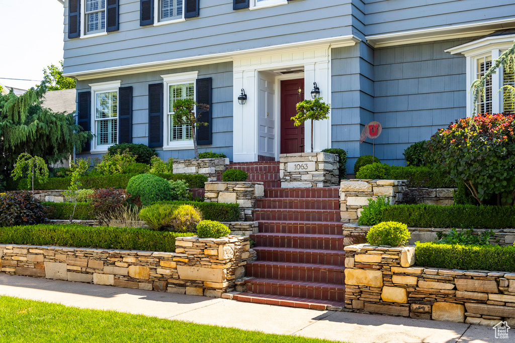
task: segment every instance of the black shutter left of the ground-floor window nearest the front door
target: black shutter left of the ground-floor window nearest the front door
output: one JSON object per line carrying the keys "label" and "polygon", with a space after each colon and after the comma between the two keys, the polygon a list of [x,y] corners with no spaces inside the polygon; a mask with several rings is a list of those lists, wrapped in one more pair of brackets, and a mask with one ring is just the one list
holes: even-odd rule
{"label": "black shutter left of the ground-floor window nearest the front door", "polygon": [[163,84],[148,85],[148,146],[163,146]]}

